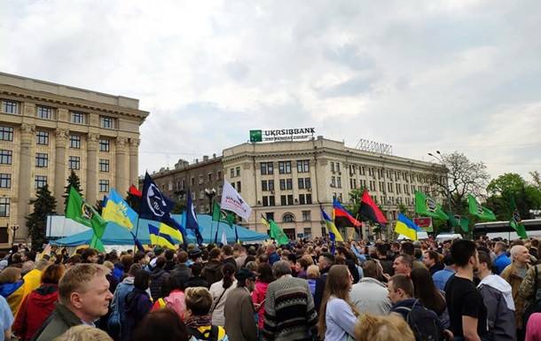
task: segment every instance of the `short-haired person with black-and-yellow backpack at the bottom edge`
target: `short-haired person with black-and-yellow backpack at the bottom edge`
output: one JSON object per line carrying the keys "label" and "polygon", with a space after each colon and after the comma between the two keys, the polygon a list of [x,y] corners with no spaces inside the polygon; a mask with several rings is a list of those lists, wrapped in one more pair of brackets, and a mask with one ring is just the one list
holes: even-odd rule
{"label": "short-haired person with black-and-yellow backpack at the bottom edge", "polygon": [[205,287],[193,287],[184,291],[186,310],[184,324],[200,341],[228,341],[225,329],[213,324],[208,312],[212,306],[212,295]]}

